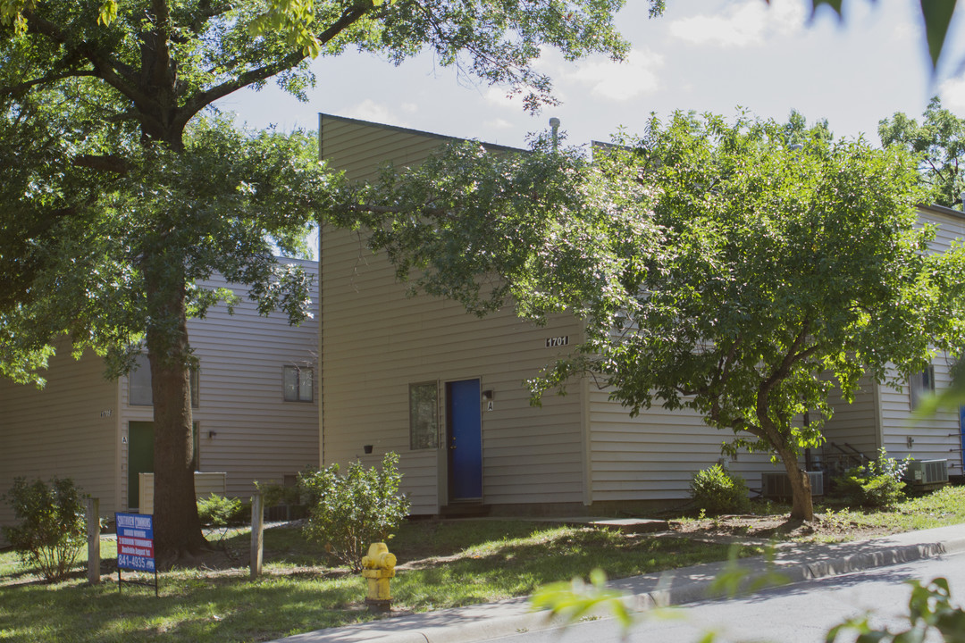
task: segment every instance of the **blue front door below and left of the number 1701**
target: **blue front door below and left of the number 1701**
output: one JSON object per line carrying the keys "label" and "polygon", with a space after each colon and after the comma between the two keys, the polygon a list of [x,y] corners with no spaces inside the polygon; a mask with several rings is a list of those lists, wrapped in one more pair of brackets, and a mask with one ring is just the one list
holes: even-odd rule
{"label": "blue front door below and left of the number 1701", "polygon": [[483,418],[480,381],[446,385],[449,424],[449,499],[483,497]]}

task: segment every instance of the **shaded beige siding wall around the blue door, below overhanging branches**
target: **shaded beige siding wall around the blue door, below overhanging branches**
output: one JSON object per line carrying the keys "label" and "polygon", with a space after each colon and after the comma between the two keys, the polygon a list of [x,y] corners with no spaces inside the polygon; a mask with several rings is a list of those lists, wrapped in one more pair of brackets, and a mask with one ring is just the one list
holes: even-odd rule
{"label": "shaded beige siding wall around the blue door, below overhanging branches", "polygon": [[[437,513],[447,501],[445,384],[479,378],[495,391],[494,410],[482,412],[483,501],[582,501],[579,387],[535,408],[523,386],[557,354],[547,337],[578,340],[572,318],[539,328],[511,310],[480,320],[452,302],[406,297],[388,261],[345,231],[324,228],[322,257],[326,464],[377,462],[396,451],[412,513]],[[408,387],[423,382],[439,383],[439,448],[412,451]],[[374,447],[370,457],[365,444]]]}

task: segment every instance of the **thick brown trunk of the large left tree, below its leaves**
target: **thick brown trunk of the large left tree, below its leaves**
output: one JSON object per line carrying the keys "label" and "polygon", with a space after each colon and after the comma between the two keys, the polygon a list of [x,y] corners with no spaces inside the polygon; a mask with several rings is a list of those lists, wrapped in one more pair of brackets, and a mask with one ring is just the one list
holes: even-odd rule
{"label": "thick brown trunk of the large left tree, below its leaves", "polygon": [[194,495],[183,284],[174,290],[151,285],[148,288],[149,306],[156,315],[147,334],[154,398],[154,549],[162,567],[189,559],[207,548]]}

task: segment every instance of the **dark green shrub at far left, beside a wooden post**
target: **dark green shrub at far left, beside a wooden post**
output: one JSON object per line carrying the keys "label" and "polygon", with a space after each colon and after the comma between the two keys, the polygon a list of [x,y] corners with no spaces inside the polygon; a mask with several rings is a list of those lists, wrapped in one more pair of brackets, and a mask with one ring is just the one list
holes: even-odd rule
{"label": "dark green shrub at far left, beside a wooden post", "polygon": [[28,484],[25,478],[15,478],[4,496],[20,521],[5,526],[4,535],[20,559],[39,567],[48,581],[63,580],[87,543],[84,497],[72,480],[57,477],[49,487],[41,480]]}

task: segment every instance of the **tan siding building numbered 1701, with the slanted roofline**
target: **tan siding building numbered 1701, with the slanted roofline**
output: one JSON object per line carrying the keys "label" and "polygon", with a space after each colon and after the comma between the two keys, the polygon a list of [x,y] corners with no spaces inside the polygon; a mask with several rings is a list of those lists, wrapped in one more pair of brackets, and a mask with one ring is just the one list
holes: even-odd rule
{"label": "tan siding building numbered 1701, with the slanted roofline", "polygon": [[[372,178],[387,163],[418,164],[452,140],[328,115],[319,115],[319,132],[323,159],[352,180]],[[721,458],[728,434],[698,415],[652,409],[631,418],[589,381],[531,406],[524,382],[568,350],[548,347],[559,343],[554,338],[581,341],[574,318],[536,327],[504,309],[481,320],[453,302],[407,296],[386,257],[356,233],[323,228],[320,246],[323,462],[373,465],[396,451],[412,513],[467,503],[506,513],[605,513],[679,501],[691,475]],[[463,469],[473,469],[455,455],[453,407],[461,402],[453,385],[462,382],[479,391],[466,400],[480,441],[475,496],[458,491]],[[435,440],[413,448],[410,385],[423,384],[435,392]],[[731,463],[752,486],[771,469],[759,455]]]}

